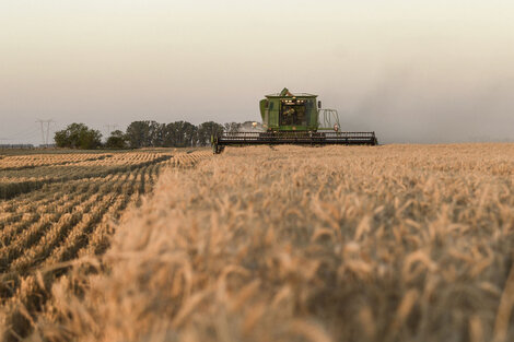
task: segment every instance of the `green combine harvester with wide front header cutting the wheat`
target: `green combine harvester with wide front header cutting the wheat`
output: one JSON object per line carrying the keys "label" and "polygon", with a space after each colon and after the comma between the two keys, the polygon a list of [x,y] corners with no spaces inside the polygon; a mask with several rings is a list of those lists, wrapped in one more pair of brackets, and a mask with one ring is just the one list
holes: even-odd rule
{"label": "green combine harvester with wide front header cutting the wheat", "polygon": [[[211,137],[212,150],[221,153],[227,145],[376,145],[375,132],[341,132],[335,109],[322,109],[317,95],[279,94],[260,101],[262,130],[223,132]],[[254,127],[257,122],[254,122]]]}

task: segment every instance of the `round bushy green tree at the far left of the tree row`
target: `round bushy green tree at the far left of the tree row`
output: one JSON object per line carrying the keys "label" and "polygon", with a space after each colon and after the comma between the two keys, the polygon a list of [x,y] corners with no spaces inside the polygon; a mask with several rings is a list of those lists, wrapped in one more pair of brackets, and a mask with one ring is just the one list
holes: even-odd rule
{"label": "round bushy green tree at the far left of the tree row", "polygon": [[65,130],[57,131],[54,140],[58,148],[93,150],[102,145],[102,133],[84,123],[71,123]]}

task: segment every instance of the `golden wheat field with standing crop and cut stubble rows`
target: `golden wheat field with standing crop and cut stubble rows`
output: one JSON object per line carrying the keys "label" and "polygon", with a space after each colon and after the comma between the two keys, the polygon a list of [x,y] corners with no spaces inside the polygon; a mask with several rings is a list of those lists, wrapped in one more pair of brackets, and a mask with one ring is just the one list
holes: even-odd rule
{"label": "golden wheat field with standing crop and cut stubble rows", "polygon": [[5,339],[514,340],[514,144],[149,156],[152,188],[105,227],[94,209],[147,178],[83,157],[0,172],[28,184],[1,184]]}

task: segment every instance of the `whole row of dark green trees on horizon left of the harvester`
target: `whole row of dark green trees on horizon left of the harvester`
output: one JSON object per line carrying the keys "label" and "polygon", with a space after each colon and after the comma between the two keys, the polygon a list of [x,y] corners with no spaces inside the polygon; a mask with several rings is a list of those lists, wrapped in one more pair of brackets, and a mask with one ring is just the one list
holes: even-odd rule
{"label": "whole row of dark green trees on horizon left of the harvester", "polygon": [[54,140],[58,148],[83,150],[207,146],[211,143],[211,135],[247,126],[252,126],[252,121],[225,125],[207,121],[198,126],[187,121],[171,123],[153,120],[133,121],[125,132],[115,130],[105,142],[102,142],[102,133],[98,130],[91,129],[84,123],[73,122],[66,129],[57,131]]}

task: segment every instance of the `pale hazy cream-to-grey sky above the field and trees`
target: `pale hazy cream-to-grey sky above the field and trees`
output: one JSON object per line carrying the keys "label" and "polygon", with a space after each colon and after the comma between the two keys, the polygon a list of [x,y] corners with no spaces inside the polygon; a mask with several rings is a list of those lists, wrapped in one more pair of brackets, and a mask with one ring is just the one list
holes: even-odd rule
{"label": "pale hazy cream-to-grey sky above the field and trees", "polygon": [[514,140],[514,1],[0,1],[0,143],[260,120],[287,86],[382,142]]}

